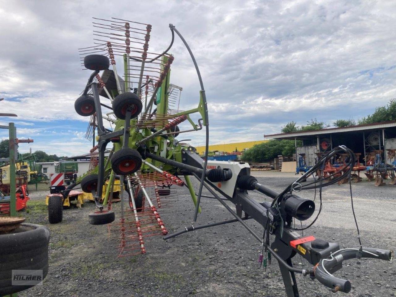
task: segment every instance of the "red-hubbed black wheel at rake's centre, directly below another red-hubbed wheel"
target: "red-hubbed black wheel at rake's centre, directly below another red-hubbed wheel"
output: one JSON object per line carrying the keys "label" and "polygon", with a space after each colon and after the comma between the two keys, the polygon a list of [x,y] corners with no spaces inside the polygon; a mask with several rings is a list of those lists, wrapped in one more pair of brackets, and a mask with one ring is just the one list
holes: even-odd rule
{"label": "red-hubbed black wheel at rake's centre, directly below another red-hubbed wheel", "polygon": [[142,157],[137,150],[121,148],[111,156],[110,162],[111,168],[116,174],[129,175],[140,169]]}

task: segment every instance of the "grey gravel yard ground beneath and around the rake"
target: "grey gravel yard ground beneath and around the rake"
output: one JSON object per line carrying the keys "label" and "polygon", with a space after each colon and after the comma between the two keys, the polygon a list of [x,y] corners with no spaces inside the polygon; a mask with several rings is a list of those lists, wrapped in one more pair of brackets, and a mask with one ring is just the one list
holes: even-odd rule
{"label": "grey gravel yard ground beneath and around the rake", "polygon": [[[260,183],[282,190],[293,175],[259,171],[252,173]],[[194,183],[198,185],[198,183]],[[396,186],[375,187],[373,182],[352,185],[356,217],[363,246],[394,249],[396,243]],[[160,211],[169,232],[190,224],[193,205],[185,188],[175,188],[173,204]],[[63,222],[48,224],[44,198],[47,191],[30,194],[28,222],[51,230],[49,273],[43,286],[19,296],[285,296],[276,260],[265,271],[257,265],[260,245],[240,224],[228,224],[183,234],[165,242],[161,236],[145,238],[145,255],[118,258],[116,243],[107,240],[106,226],[88,224],[95,209],[86,202],[82,209],[65,209]],[[300,193],[314,197],[313,190]],[[257,200],[264,196],[252,193]],[[318,197],[316,198],[318,199]],[[324,189],[323,211],[305,235],[336,241],[341,247],[356,247],[358,240],[352,217],[348,185]],[[231,205],[231,204],[230,204]],[[318,206],[318,205],[317,205]],[[115,209],[120,208],[120,203]],[[318,208],[318,207],[317,207]],[[314,216],[313,216],[314,217]],[[202,198],[199,223],[230,219],[216,201]],[[262,232],[259,224],[247,221]],[[309,268],[296,256],[294,265]],[[345,263],[337,276],[351,280],[352,290],[343,296],[396,296],[394,262],[362,259]],[[334,296],[326,287],[298,275],[301,296]]]}

